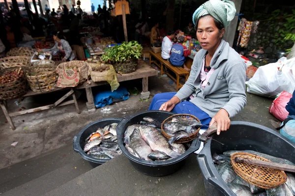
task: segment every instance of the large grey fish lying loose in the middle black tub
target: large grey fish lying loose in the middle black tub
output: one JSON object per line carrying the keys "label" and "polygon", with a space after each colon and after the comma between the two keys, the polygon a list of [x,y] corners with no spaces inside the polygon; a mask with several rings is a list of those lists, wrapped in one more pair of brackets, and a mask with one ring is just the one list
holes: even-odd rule
{"label": "large grey fish lying loose in the middle black tub", "polygon": [[168,143],[161,131],[162,123],[149,117],[143,120],[128,126],[124,134],[125,147],[133,156],[147,161],[165,161],[186,151],[183,144]]}

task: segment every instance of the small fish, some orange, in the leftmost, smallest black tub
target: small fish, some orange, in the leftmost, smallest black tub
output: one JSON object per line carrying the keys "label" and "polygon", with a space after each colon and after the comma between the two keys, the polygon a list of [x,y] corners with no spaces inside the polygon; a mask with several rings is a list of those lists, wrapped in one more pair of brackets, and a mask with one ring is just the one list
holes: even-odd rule
{"label": "small fish, some orange, in the leftmost, smallest black tub", "polygon": [[85,140],[84,152],[97,159],[111,159],[121,154],[116,132],[117,125],[118,123],[112,123],[91,133]]}

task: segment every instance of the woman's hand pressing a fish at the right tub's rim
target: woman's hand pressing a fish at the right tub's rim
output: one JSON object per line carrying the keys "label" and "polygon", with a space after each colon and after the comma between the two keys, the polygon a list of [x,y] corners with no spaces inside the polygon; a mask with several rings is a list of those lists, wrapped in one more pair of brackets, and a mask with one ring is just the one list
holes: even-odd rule
{"label": "woman's hand pressing a fish at the right tub's rim", "polygon": [[212,118],[209,126],[213,123],[217,123],[217,135],[220,134],[220,131],[226,131],[230,128],[231,120],[229,117],[229,113],[225,109],[220,109],[217,114]]}

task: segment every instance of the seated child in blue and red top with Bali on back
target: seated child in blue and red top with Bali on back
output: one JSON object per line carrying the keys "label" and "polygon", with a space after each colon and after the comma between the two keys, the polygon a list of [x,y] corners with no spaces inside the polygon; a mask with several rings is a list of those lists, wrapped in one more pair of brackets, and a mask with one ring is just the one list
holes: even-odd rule
{"label": "seated child in blue and red top with Bali on back", "polygon": [[184,62],[185,62],[185,57],[187,57],[191,53],[191,46],[190,46],[191,41],[189,41],[188,48],[183,46],[183,44],[182,44],[183,41],[184,41],[184,37],[182,37],[182,36],[178,37],[177,43],[174,44],[171,48],[169,62],[174,67],[182,67],[183,66],[183,69],[190,72],[190,69],[185,66]]}

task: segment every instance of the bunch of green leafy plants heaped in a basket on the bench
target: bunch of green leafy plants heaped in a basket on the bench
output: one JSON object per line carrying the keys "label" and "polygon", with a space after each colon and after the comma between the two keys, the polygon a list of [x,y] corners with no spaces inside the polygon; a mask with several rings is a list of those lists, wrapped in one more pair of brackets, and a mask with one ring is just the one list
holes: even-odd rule
{"label": "bunch of green leafy plants heaped in a basket on the bench", "polygon": [[142,54],[143,47],[137,41],[123,42],[121,45],[106,49],[102,55],[103,61],[126,62],[126,60],[138,59]]}

